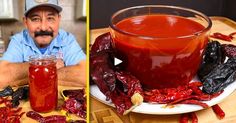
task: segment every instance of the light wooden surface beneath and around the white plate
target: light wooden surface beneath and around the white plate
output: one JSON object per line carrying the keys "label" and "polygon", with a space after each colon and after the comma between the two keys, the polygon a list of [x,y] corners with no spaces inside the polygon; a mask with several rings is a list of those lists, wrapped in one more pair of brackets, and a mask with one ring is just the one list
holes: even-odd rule
{"label": "light wooden surface beneath and around the white plate", "polygon": [[[229,34],[236,32],[236,22],[223,17],[211,17],[213,26],[211,33],[221,32],[223,34]],[[102,33],[108,32],[105,29],[96,29],[91,31],[91,43],[95,38]],[[236,45],[236,40],[232,42]],[[180,115],[147,115],[139,113],[129,113],[125,116],[120,116],[116,113],[116,110],[110,106],[107,106],[93,97],[90,97],[90,121],[91,123],[178,123]],[[236,122],[236,92],[233,92],[220,104],[220,107],[225,111],[225,118],[219,120],[214,114],[211,108],[197,111],[197,117],[199,123],[234,123]]]}

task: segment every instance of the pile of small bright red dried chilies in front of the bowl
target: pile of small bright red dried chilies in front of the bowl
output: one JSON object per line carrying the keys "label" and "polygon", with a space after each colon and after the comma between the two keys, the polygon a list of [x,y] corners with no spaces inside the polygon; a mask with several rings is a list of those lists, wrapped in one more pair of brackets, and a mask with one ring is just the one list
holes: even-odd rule
{"label": "pile of small bright red dried chilies in front of the bowl", "polygon": [[203,93],[200,89],[201,82],[191,82],[177,88],[153,89],[144,91],[144,101],[149,103],[173,104],[194,104],[207,108],[208,105],[201,101],[208,101],[219,96],[223,91],[212,95]]}

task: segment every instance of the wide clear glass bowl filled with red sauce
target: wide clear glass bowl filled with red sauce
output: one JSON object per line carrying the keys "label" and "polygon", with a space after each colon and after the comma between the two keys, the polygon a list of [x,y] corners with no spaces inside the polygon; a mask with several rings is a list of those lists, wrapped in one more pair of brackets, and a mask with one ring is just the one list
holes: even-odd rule
{"label": "wide clear glass bowl filled with red sauce", "polygon": [[146,5],[116,12],[110,33],[122,67],[144,88],[171,88],[196,75],[211,26],[192,9]]}

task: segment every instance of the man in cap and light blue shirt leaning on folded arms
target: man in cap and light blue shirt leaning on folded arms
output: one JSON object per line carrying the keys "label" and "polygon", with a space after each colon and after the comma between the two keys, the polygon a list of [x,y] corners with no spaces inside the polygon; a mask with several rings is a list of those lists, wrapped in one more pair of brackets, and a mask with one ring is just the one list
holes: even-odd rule
{"label": "man in cap and light blue shirt leaning on folded arms", "polygon": [[85,54],[72,34],[59,29],[57,0],[25,0],[24,25],[27,29],[11,38],[0,61],[0,87],[28,83],[29,56],[56,55],[59,85],[85,86]]}

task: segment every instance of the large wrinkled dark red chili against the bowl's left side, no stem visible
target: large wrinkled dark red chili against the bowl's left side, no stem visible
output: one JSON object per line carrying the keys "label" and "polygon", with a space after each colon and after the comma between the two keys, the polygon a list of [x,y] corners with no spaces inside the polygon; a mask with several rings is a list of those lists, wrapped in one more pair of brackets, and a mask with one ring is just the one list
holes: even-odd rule
{"label": "large wrinkled dark red chili against the bowl's left side, no stem visible", "polygon": [[91,79],[109,100],[110,93],[115,89],[115,72],[112,64],[111,35],[105,33],[96,38],[90,51]]}

